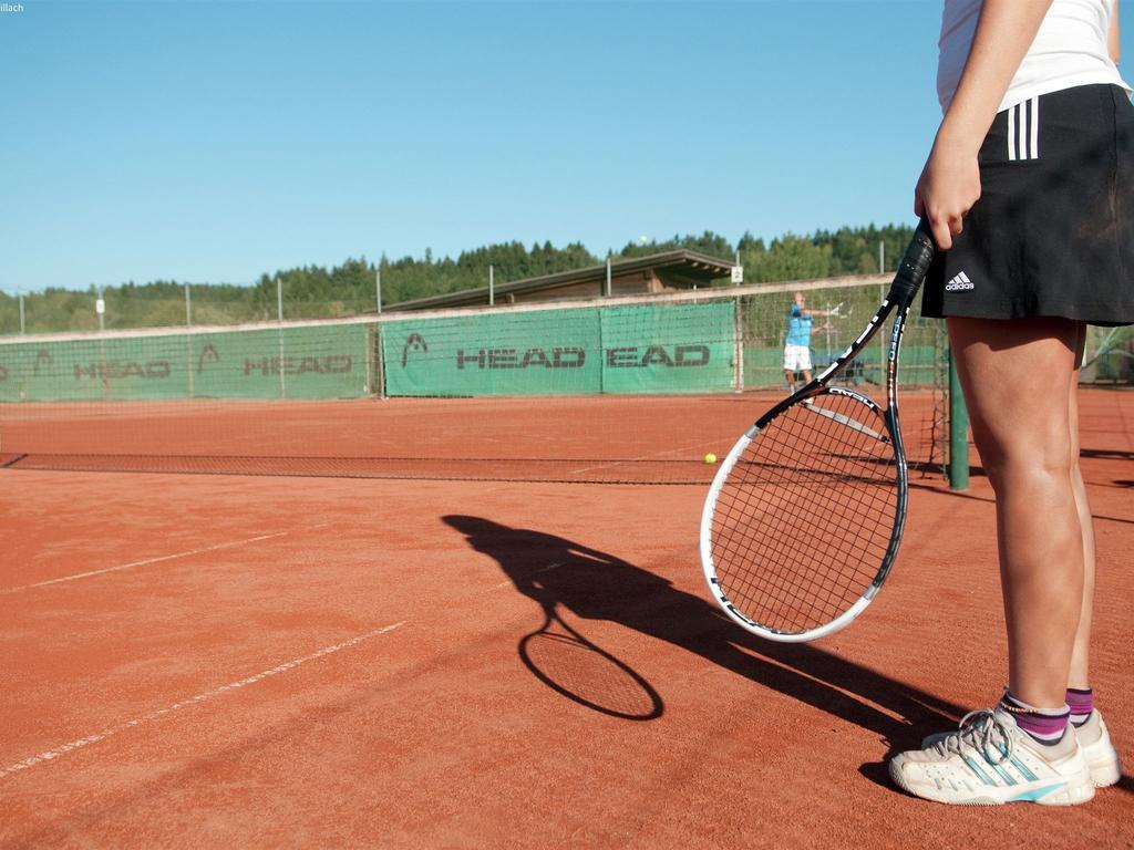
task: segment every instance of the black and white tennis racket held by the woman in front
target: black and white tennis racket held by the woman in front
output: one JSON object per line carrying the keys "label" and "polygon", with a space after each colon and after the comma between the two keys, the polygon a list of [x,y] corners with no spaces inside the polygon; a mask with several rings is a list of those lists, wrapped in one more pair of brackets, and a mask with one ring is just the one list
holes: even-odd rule
{"label": "black and white tennis racket held by the woman in front", "polygon": [[[933,260],[923,220],[865,330],[813,381],[761,416],[713,478],[701,564],[733,620],[781,641],[814,640],[870,604],[898,552],[906,459],[898,428],[898,350]],[[895,315],[887,407],[832,380]]]}

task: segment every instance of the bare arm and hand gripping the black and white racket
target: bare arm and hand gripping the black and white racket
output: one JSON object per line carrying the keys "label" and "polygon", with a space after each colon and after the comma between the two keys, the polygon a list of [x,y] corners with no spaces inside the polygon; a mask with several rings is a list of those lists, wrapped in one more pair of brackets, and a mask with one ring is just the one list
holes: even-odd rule
{"label": "bare arm and hand gripping the black and white racket", "polygon": [[985,0],[957,92],[914,192],[941,250],[981,196],[976,154],[1052,0]]}

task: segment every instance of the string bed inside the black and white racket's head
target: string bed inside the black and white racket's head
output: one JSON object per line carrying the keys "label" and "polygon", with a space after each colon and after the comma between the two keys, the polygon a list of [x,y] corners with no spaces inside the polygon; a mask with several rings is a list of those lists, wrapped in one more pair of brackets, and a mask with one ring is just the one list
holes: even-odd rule
{"label": "string bed inside the black and white racket's head", "polygon": [[896,507],[894,445],[874,408],[833,393],[793,405],[745,449],[717,499],[721,589],[765,628],[826,624],[873,584]]}

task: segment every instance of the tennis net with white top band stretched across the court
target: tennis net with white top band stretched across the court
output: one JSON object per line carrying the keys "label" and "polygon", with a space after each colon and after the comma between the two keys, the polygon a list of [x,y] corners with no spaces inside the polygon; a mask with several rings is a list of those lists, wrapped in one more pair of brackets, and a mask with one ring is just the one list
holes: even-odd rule
{"label": "tennis net with white top band stretched across the court", "polygon": [[[836,313],[812,338],[821,368],[883,286],[3,337],[0,465],[702,484],[705,454],[723,456],[786,393],[792,294]],[[911,318],[903,431],[911,465],[929,473],[945,461],[946,350],[940,323]],[[878,394],[885,346],[844,380]]]}

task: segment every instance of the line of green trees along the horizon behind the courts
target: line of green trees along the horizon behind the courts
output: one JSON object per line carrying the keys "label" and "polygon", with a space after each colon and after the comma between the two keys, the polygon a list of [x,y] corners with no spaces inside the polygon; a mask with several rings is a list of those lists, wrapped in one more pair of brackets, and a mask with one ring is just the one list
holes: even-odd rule
{"label": "line of green trees along the horizon behind the courts", "polygon": [[[735,244],[711,231],[700,236],[674,236],[665,240],[634,240],[611,258],[648,256],[674,248],[687,248],[744,266],[745,283],[870,274],[879,271],[879,245],[885,246],[887,271],[892,271],[913,229],[904,224],[844,227],[820,230],[812,236],[786,233],[764,243],[744,233]],[[489,267],[497,283],[599,265],[596,256],[579,243],[557,248],[550,241],[527,247],[518,241],[488,245],[462,252],[456,258],[435,258],[426,249],[422,257],[378,262],[347,258],[327,269],[306,265],[263,273],[252,286],[186,283],[156,280],[133,281],[102,290],[107,329],[155,328],[193,324],[231,324],[270,321],[278,315],[279,292],[284,292],[285,318],[325,318],[372,313],[376,307],[375,274],[381,273],[382,301],[398,301],[443,295],[488,286]],[[727,286],[728,279],[718,281]],[[86,290],[49,288],[24,296],[24,329],[27,333],[91,331],[100,326],[94,301],[95,287]],[[20,331],[18,298],[0,292],[0,333]]]}

